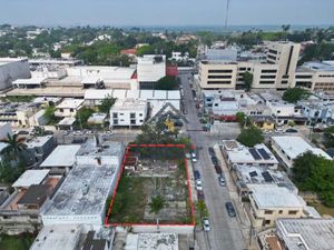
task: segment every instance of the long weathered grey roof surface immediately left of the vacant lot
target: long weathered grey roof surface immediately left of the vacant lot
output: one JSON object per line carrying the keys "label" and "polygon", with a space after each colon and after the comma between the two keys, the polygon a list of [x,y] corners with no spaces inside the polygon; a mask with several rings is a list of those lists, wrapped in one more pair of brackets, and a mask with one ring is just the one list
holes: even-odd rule
{"label": "long weathered grey roof surface immediately left of the vacant lot", "polygon": [[80,166],[73,168],[53,198],[43,207],[42,216],[96,216],[104,213],[111,192],[116,169]]}

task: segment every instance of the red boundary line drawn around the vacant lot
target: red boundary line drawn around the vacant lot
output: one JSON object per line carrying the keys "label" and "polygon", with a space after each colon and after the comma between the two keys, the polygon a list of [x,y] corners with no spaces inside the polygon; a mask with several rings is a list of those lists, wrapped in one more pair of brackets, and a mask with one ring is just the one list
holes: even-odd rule
{"label": "red boundary line drawn around the vacant lot", "polygon": [[[127,158],[129,157],[129,150],[130,148],[183,148],[185,150],[185,144],[128,144],[126,148],[126,152],[121,162],[121,169],[120,172],[118,174],[118,179],[117,179],[117,183],[116,187],[114,189],[112,192],[112,198],[111,198],[111,202],[110,206],[108,208],[108,212],[107,212],[107,217],[105,218],[105,227],[132,227],[132,226],[157,226],[156,223],[109,223],[109,217],[111,214],[111,208],[116,198],[116,193],[117,193],[117,189],[118,189],[118,184],[125,168],[125,163]],[[193,222],[191,223],[186,223],[186,224],[180,224],[180,223],[159,223],[159,227],[166,227],[166,226],[178,226],[178,227],[185,227],[185,226],[196,226],[196,221],[195,221],[195,210],[194,210],[194,204],[193,204],[193,200],[191,200],[191,188],[190,188],[190,179],[189,179],[189,169],[187,166],[187,158],[185,157],[185,167],[186,167],[186,172],[187,172],[187,186],[188,186],[188,194],[189,194],[189,202],[190,202],[190,210],[191,210],[191,218],[193,218]]]}

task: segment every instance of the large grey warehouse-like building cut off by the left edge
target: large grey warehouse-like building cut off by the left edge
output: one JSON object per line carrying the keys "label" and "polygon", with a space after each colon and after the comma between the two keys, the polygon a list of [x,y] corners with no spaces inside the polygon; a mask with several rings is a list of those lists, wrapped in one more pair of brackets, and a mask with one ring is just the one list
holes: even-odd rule
{"label": "large grey warehouse-like building cut off by the left edge", "polygon": [[0,90],[8,89],[12,81],[30,78],[28,59],[0,58]]}

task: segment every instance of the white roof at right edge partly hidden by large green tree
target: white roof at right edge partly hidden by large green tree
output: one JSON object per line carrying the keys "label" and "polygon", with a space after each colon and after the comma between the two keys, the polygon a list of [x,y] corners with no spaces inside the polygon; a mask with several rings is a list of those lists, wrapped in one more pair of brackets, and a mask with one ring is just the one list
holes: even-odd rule
{"label": "white roof at right edge partly hidden by large green tree", "polygon": [[277,143],[291,159],[295,159],[299,154],[303,154],[307,151],[311,151],[317,156],[322,156],[328,160],[332,159],[324,150],[320,148],[313,148],[301,137],[293,137],[293,136],[272,137],[272,140],[275,143]]}

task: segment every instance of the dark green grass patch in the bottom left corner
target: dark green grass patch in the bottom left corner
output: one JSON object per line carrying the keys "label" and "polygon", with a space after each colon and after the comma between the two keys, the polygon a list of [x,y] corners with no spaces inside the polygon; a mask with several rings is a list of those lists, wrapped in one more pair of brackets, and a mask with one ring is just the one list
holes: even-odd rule
{"label": "dark green grass patch in the bottom left corner", "polygon": [[0,234],[0,250],[29,250],[33,239],[35,237],[28,233],[19,236]]}

